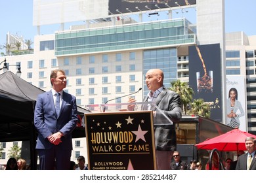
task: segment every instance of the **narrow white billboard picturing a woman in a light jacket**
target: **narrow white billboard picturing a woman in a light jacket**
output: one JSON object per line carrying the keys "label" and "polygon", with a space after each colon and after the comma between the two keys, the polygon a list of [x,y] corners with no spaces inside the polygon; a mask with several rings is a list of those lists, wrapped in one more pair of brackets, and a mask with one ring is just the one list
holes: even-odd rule
{"label": "narrow white billboard picturing a woman in a light jacket", "polygon": [[226,125],[247,131],[245,76],[226,76],[226,97]]}

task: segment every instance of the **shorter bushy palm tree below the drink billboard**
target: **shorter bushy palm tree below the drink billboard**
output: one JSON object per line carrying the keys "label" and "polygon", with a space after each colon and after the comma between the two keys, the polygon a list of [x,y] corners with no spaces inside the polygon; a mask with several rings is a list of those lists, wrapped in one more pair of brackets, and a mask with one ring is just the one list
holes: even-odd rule
{"label": "shorter bushy palm tree below the drink billboard", "polygon": [[194,99],[190,107],[190,110],[188,110],[189,114],[198,114],[205,118],[209,118],[211,116],[211,109],[203,99]]}

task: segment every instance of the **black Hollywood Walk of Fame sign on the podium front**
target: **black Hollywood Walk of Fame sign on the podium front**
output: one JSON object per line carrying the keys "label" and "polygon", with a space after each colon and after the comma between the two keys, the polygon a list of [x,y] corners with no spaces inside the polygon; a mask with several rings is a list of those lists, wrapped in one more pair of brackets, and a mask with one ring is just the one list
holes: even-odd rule
{"label": "black Hollywood Walk of Fame sign on the podium front", "polygon": [[154,170],[152,111],[85,114],[91,170]]}

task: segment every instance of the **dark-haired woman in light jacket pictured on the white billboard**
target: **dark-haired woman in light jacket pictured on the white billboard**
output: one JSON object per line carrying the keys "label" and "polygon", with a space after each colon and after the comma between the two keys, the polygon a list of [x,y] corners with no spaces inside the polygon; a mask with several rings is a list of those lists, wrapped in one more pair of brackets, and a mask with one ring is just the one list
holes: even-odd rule
{"label": "dark-haired woman in light jacket pictured on the white billboard", "polygon": [[[240,120],[239,118],[241,116],[244,116],[244,109],[242,108],[242,105],[240,101],[238,101],[238,91],[236,88],[230,88],[228,92],[228,100],[226,104],[227,109],[227,125],[230,127],[240,127]],[[238,110],[240,112],[238,113]]]}

